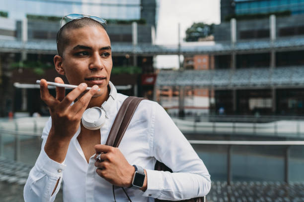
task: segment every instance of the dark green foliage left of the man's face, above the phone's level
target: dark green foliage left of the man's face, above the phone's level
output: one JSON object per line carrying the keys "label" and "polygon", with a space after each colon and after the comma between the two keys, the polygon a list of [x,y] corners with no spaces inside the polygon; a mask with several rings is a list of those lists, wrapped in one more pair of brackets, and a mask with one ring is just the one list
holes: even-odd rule
{"label": "dark green foliage left of the man's face, above the phone's level", "polygon": [[19,61],[10,64],[10,69],[31,69],[35,74],[43,75],[45,69],[53,68],[51,63],[43,63],[41,61]]}

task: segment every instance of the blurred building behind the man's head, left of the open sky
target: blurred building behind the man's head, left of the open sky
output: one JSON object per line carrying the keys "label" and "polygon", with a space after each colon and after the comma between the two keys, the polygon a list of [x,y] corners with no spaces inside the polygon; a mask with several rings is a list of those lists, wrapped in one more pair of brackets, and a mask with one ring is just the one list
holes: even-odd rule
{"label": "blurred building behind the man's head, left of the open sky", "polygon": [[155,0],[10,0],[1,2],[0,7],[0,116],[10,111],[45,113],[37,86],[25,88],[16,83],[34,84],[41,78],[52,81],[58,76],[53,57],[63,13],[106,19],[113,49],[111,81],[124,94],[152,99],[153,55],[138,56],[129,50],[137,44],[154,43]]}

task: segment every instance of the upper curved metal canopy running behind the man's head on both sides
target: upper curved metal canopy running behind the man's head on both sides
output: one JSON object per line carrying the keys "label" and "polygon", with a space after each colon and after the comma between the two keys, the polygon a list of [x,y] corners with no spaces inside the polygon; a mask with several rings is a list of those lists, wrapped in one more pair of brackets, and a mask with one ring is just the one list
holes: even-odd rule
{"label": "upper curved metal canopy running behind the man's head on both sides", "polygon": [[[165,55],[165,54],[230,54],[267,52],[270,50],[289,51],[304,50],[304,37],[299,36],[279,38],[272,42],[267,40],[238,41],[231,44],[229,41],[216,42],[213,45],[191,45],[189,43],[178,45],[151,45],[151,44],[132,44],[112,43],[114,55],[136,54],[136,55]],[[0,52],[20,52],[41,54],[56,54],[55,41],[28,41],[23,43],[17,40],[0,40]]]}

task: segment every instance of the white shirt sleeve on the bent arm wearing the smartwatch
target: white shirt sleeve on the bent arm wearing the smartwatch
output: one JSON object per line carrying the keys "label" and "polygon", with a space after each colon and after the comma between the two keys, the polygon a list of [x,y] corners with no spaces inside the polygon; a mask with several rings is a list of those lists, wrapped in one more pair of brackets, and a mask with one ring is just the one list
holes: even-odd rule
{"label": "white shirt sleeve on the bent arm wearing the smartwatch", "polygon": [[143,196],[171,201],[206,196],[211,180],[204,162],[157,103],[153,106],[151,121],[151,154],[173,173],[146,169],[148,187]]}

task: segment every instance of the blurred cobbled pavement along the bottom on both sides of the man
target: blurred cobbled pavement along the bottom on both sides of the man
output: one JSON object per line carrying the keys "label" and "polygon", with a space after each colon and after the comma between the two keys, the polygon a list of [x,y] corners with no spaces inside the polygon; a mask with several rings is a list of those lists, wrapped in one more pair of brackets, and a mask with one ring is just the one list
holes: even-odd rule
{"label": "blurred cobbled pavement along the bottom on both sides of the man", "polygon": [[[23,186],[17,183],[0,182],[1,202],[23,202]],[[269,182],[212,183],[208,202],[304,202],[304,183],[291,184]],[[55,202],[63,202],[62,191]]]}

